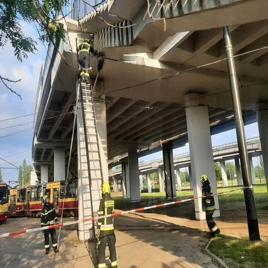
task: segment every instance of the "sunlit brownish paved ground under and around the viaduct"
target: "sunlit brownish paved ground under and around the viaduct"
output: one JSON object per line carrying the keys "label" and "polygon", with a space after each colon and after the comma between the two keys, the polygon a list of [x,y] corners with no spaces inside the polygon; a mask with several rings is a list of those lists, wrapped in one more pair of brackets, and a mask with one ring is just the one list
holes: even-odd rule
{"label": "sunlit brownish paved ground under and around the viaduct", "polygon": [[[115,218],[118,267],[221,267],[203,251],[206,222],[193,221],[191,215],[176,215],[176,210],[174,206],[165,208],[162,211],[164,215],[157,210],[157,213],[131,213]],[[226,235],[248,236],[247,221],[243,215],[238,217],[236,213],[228,217],[222,216],[217,224]],[[0,232],[19,231],[39,225],[40,219],[9,218],[6,224],[0,225]],[[262,239],[267,240],[267,213],[259,216],[259,227]],[[94,244],[78,242],[76,228],[77,226],[63,228],[60,252],[50,252],[49,255],[44,254],[41,232],[0,238],[1,267],[94,267]],[[111,267],[109,250],[106,251],[106,256],[107,267]]]}

